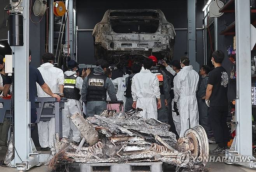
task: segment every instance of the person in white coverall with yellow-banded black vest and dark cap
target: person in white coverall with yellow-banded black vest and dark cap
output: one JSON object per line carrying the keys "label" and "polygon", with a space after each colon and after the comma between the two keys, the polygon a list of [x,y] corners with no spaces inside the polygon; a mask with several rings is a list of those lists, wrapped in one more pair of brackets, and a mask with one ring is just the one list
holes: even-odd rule
{"label": "person in white coverall with yellow-banded black vest and dark cap", "polygon": [[80,141],[80,132],[75,127],[74,123],[71,121],[69,116],[75,115],[81,112],[81,89],[83,80],[81,77],[76,75],[76,70],[78,63],[74,60],[68,61],[68,69],[69,71],[64,72],[64,97],[68,99],[68,102],[65,102],[64,109],[62,110],[62,129],[63,129],[63,137],[71,137],[70,130],[72,131],[72,140],[75,142]]}

